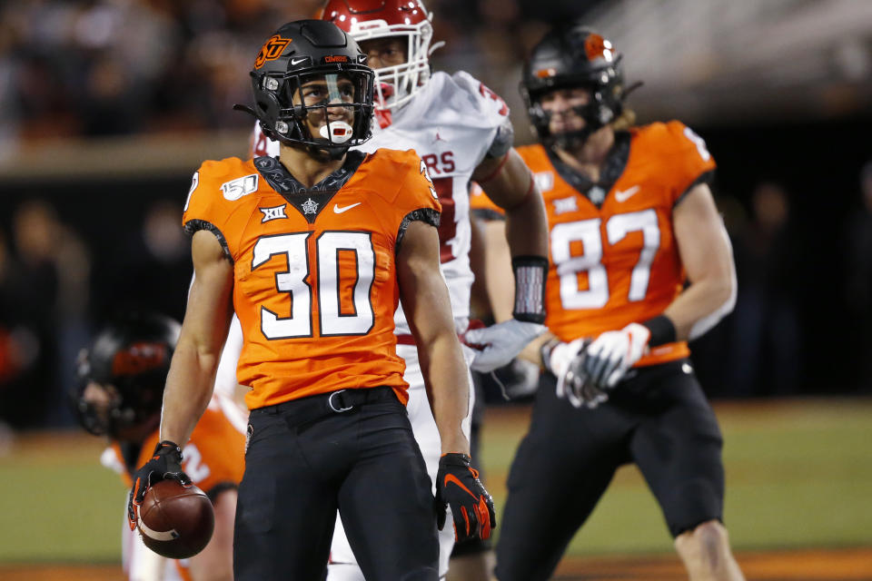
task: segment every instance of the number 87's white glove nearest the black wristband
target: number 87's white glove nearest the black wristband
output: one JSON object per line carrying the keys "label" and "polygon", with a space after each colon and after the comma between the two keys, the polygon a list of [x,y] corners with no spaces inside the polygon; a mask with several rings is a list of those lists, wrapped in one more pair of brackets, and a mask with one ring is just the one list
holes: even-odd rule
{"label": "number 87's white glove nearest the black wristband", "polygon": [[629,323],[621,330],[599,335],[586,350],[587,380],[599,389],[614,388],[645,354],[650,337],[651,331],[639,323]]}

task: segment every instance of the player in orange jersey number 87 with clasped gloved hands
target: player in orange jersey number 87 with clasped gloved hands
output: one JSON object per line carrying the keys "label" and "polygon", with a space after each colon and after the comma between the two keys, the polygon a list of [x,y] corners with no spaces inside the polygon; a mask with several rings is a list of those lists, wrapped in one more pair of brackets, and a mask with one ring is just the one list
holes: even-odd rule
{"label": "player in orange jersey number 87 with clasped gloved hands", "polygon": [[682,123],[630,126],[620,58],[572,23],[551,30],[524,68],[541,143],[519,151],[546,203],[551,258],[550,337],[527,353],[549,373],[510,470],[500,581],[550,578],[629,462],[690,579],[743,578],[722,522],[718,422],[687,359],[687,341],[735,301],[708,188],[715,162]]}

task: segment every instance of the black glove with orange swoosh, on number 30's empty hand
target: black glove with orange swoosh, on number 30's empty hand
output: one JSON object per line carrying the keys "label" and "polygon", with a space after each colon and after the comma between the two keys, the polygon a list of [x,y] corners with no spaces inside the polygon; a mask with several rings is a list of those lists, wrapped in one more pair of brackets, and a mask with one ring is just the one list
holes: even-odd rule
{"label": "black glove with orange swoosh, on number 30's empty hand", "polygon": [[436,524],[445,526],[446,507],[454,517],[454,540],[460,543],[470,538],[490,537],[497,526],[493,499],[481,485],[479,471],[471,467],[466,454],[443,454],[436,475]]}

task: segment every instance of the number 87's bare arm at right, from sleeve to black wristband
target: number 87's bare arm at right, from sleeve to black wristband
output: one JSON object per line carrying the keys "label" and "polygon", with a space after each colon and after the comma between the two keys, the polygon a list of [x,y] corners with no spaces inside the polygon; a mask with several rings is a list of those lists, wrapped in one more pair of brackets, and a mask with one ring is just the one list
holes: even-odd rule
{"label": "number 87's bare arm at right, from sleeve to black wristband", "polygon": [[736,304],[736,267],[727,229],[707,184],[694,186],[672,218],[690,284],[663,314],[675,326],[676,339],[693,340]]}

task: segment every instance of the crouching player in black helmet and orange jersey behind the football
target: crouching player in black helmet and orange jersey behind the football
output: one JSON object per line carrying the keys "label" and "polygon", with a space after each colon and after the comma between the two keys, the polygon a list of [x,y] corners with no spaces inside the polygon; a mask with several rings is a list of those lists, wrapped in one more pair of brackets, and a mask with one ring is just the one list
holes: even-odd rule
{"label": "crouching player in black helmet and orange jersey behind the football", "polygon": [[[73,394],[76,417],[87,431],[109,438],[102,461],[122,474],[127,487],[159,439],[163,384],[178,334],[179,323],[172,319],[132,314],[107,325],[79,358]],[[213,501],[212,540],[199,555],[176,561],[152,553],[138,533],[125,530],[128,579],[233,579],[233,515],[236,487],[243,478],[244,429],[233,403],[218,397],[210,402],[184,446],[183,468]]]}

